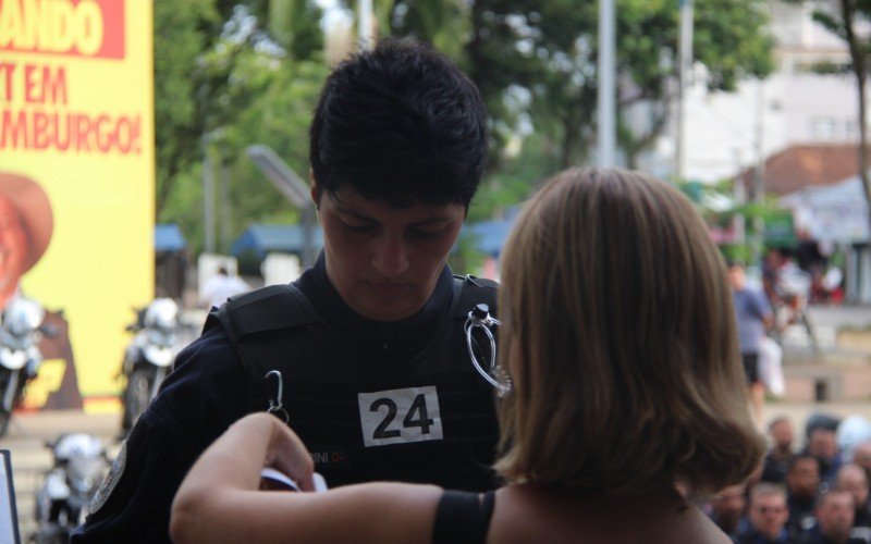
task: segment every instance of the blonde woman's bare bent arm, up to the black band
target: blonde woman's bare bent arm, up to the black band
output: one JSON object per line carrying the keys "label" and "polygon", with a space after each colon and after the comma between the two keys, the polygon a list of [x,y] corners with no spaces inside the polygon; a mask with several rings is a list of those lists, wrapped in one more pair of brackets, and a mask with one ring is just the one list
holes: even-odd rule
{"label": "blonde woman's bare bent arm, up to the black band", "polygon": [[266,413],[234,423],[188,472],[172,505],[175,542],[428,542],[441,490],[376,483],[326,493],[257,491],[273,467],[311,490],[299,438]]}

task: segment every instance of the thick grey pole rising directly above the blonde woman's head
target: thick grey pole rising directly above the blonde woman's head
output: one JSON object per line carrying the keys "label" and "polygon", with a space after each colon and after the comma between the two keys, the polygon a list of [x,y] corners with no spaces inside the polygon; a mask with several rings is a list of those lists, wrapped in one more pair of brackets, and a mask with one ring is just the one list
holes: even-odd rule
{"label": "thick grey pole rising directly above the blonde woman's head", "polygon": [[616,85],[614,0],[599,0],[599,168],[614,166]]}

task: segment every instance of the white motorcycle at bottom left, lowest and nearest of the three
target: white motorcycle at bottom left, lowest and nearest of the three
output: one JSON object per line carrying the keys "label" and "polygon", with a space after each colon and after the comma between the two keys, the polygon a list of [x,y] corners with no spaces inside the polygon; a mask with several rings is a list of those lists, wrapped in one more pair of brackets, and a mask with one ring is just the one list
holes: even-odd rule
{"label": "white motorcycle at bottom left, lowest and nearest of the three", "polygon": [[109,468],[106,448],[90,434],[64,433],[46,443],[53,458],[36,494],[38,523],[33,540],[39,544],[70,542],[70,533],[85,521]]}

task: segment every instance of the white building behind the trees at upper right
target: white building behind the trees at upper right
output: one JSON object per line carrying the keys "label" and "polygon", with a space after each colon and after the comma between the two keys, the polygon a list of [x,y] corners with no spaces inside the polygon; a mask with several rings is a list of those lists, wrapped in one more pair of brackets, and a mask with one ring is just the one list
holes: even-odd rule
{"label": "white building behind the trees at upper right", "polygon": [[[745,81],[735,92],[709,92],[697,66],[686,92],[684,177],[714,182],[751,168],[788,146],[856,143],[858,106],[850,76],[800,72],[814,60],[846,61],[844,42],[800,5],[771,2],[778,70],[763,82]],[[639,161],[658,175],[674,172],[674,128]]]}

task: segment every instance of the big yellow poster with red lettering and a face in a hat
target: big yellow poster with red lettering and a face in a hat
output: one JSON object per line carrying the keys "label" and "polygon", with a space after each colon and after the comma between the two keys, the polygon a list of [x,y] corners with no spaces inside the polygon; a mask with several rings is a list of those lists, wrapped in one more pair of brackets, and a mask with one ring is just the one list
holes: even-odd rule
{"label": "big yellow poster with red lettering and a face in a hat", "polygon": [[25,406],[114,405],[154,294],[152,73],[151,2],[0,0],[0,308],[62,333]]}

